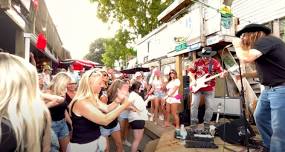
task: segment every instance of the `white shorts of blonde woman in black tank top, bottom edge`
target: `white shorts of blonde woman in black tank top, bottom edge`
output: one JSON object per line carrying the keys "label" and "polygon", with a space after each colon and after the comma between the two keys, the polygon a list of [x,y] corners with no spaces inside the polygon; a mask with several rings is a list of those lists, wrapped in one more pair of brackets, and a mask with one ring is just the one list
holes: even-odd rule
{"label": "white shorts of blonde woman in black tank top, bottom edge", "polygon": [[106,138],[100,136],[97,140],[86,144],[69,143],[67,146],[67,152],[102,152],[105,151],[107,146]]}

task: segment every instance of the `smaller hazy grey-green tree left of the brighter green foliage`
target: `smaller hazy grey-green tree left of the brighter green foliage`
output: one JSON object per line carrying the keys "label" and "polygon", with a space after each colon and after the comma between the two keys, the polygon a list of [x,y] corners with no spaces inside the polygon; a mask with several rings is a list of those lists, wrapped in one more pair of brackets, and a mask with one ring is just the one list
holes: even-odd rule
{"label": "smaller hazy grey-green tree left of the brighter green foliage", "polygon": [[92,42],[89,46],[89,53],[85,55],[85,59],[103,64],[102,54],[105,52],[104,43],[107,39],[99,38]]}

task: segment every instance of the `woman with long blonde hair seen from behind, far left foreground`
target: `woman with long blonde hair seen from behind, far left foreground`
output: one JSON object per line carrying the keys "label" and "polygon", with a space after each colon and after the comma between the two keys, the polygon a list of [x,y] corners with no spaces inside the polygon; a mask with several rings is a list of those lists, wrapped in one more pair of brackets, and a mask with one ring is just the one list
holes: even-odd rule
{"label": "woman with long blonde hair seen from behind, far left foreground", "polygon": [[0,151],[49,152],[50,118],[36,68],[0,53]]}

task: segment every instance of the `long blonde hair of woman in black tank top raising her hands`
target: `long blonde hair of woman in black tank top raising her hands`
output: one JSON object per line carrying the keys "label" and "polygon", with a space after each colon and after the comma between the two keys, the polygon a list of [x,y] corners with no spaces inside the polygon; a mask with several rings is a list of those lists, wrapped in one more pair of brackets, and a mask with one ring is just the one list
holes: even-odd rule
{"label": "long blonde hair of woman in black tank top raising her hands", "polygon": [[77,92],[76,92],[75,96],[73,97],[73,100],[72,100],[70,105],[72,105],[72,103],[74,101],[77,101],[77,100],[78,101],[85,100],[85,99],[99,100],[98,94],[94,94],[93,89],[92,89],[93,85],[91,85],[91,83],[95,83],[95,82],[92,82],[90,80],[91,75],[95,76],[97,79],[99,77],[102,77],[102,73],[96,71],[96,69],[86,71],[82,75],[82,77],[79,81]]}

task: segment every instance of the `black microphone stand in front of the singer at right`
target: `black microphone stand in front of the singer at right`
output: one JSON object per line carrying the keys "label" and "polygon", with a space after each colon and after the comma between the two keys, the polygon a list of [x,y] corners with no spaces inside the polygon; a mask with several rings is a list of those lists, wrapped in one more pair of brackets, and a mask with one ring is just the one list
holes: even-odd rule
{"label": "black microphone stand in front of the singer at right", "polygon": [[[240,83],[241,83],[241,90],[240,90],[240,117],[241,120],[243,122],[243,126],[244,126],[244,134],[245,134],[245,140],[244,140],[244,145],[247,148],[247,152],[249,152],[249,145],[248,145],[248,139],[249,139],[249,135],[248,135],[248,123],[246,120],[246,114],[245,114],[245,97],[244,97],[244,87],[243,87],[243,77],[241,75],[241,66],[240,66],[240,61],[237,62],[238,63],[238,69],[239,69],[239,75],[240,75]],[[241,130],[243,131],[243,130]]]}

